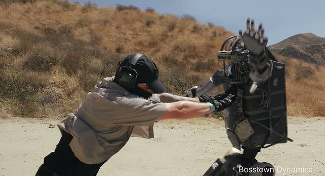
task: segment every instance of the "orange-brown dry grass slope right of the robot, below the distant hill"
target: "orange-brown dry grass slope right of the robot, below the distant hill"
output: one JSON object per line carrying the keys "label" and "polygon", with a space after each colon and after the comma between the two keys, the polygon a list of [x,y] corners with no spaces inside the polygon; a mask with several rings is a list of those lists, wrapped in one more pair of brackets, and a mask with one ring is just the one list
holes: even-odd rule
{"label": "orange-brown dry grass slope right of the robot, below the distant hill", "polygon": [[286,64],[288,114],[325,116],[325,67],[280,55],[276,57]]}

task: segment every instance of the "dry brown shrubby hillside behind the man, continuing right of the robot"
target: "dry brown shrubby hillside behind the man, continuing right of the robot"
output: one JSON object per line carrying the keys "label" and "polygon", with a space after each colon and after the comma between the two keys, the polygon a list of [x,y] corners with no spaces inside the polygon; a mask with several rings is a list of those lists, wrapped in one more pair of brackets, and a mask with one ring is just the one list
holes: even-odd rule
{"label": "dry brown shrubby hillside behind the man, continuing right of the robot", "polygon": [[[132,5],[0,1],[0,116],[64,116],[134,52],[151,57],[168,91],[182,95],[218,68],[216,53],[230,35],[190,15]],[[279,58],[288,70],[288,113],[325,116],[324,68]]]}

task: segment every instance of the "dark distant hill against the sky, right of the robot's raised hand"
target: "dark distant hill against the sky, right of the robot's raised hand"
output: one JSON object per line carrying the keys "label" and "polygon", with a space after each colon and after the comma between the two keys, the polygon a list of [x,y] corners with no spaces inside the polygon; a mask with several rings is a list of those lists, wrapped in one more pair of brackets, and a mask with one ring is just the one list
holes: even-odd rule
{"label": "dark distant hill against the sky, right of the robot's raised hand", "polygon": [[312,33],[290,36],[269,46],[272,52],[313,64],[325,64],[325,37]]}

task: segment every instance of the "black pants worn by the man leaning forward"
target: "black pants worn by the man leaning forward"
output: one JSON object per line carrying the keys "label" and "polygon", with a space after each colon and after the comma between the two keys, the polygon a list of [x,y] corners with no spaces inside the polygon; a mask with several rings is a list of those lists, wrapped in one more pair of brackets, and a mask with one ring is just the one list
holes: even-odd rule
{"label": "black pants worn by the man leaning forward", "polygon": [[107,161],[99,164],[85,164],[72,152],[69,143],[72,136],[64,132],[54,152],[44,158],[37,176],[96,176],[99,168]]}

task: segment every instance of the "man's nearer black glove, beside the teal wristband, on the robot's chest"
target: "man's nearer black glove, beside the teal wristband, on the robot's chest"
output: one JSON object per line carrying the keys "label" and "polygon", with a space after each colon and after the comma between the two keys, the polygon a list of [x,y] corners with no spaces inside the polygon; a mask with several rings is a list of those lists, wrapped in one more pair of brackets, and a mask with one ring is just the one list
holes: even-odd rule
{"label": "man's nearer black glove, beside the teal wristband, on the robot's chest", "polygon": [[224,94],[214,96],[214,99],[209,102],[215,107],[214,112],[224,110],[231,106],[237,98],[237,85],[232,85]]}

